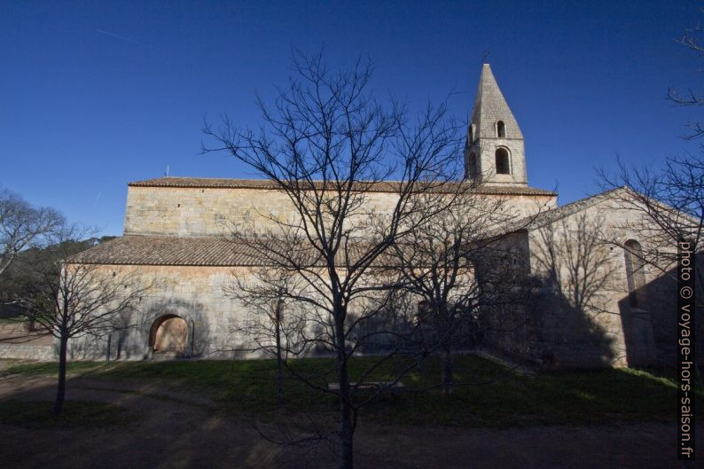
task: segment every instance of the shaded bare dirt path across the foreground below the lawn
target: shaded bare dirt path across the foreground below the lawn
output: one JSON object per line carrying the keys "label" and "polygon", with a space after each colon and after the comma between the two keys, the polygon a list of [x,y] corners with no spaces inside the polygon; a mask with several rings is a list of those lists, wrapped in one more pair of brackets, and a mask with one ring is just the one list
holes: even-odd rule
{"label": "shaded bare dirt path across the foreground below the lawn", "polygon": [[[0,379],[0,400],[51,400],[43,377]],[[139,423],[98,429],[28,430],[0,425],[4,468],[298,468],[334,467],[329,450],[285,449],[253,426],[215,412],[202,395],[97,379],[69,381],[70,399],[116,403]],[[698,431],[704,450],[704,429]],[[669,468],[674,426],[550,426],[505,430],[372,426],[356,434],[356,467],[595,469]]]}

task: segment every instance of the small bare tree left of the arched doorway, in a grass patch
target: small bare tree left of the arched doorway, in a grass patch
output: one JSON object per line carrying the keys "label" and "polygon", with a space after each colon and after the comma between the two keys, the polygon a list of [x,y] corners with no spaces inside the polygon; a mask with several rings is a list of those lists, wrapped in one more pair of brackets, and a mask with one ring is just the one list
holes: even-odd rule
{"label": "small bare tree left of the arched doorway, in a grass patch", "polygon": [[[117,317],[129,317],[149,285],[129,268],[80,263],[74,239],[85,231],[59,231],[48,247],[54,255],[33,266],[35,289],[20,296],[28,317],[59,340],[59,383],[54,411],[62,410],[66,395],[66,356],[69,340],[101,337],[114,329]],[[55,259],[60,259],[56,262]],[[122,320],[121,327],[125,321]]]}

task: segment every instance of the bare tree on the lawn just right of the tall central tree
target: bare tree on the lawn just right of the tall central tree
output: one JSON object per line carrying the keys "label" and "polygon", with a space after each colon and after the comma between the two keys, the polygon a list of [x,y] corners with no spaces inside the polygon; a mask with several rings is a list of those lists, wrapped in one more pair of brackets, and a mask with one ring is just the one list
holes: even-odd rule
{"label": "bare tree on the lawn just right of the tall central tree", "polygon": [[[478,345],[481,312],[518,303],[522,296],[514,294],[519,289],[506,288],[511,279],[516,280],[512,285],[519,285],[512,262],[519,254],[495,234],[497,227],[512,221],[516,214],[504,199],[482,195],[481,186],[459,185],[454,196],[447,211],[418,223],[417,230],[394,246],[402,285],[419,301],[420,332],[431,335],[429,340],[423,339],[423,347],[426,353],[442,353],[441,381],[446,394],[454,387],[453,349],[458,344]],[[480,264],[490,277],[477,276]]]}

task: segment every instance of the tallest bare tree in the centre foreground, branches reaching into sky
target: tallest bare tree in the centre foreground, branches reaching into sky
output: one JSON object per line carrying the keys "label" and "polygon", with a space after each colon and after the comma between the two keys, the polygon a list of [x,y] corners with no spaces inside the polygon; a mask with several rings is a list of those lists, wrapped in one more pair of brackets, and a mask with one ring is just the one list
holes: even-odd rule
{"label": "tallest bare tree in the centre foreground, branches reaching into sky", "polygon": [[[232,238],[259,265],[296,277],[298,287],[282,294],[313,311],[303,341],[332,353],[335,383],[324,387],[289,370],[338,397],[340,426],[333,436],[340,467],[351,468],[357,412],[387,387],[367,397],[364,380],[403,347],[402,334],[365,327],[387,311],[396,286],[381,275],[380,263],[397,239],[447,207],[442,186],[461,160],[461,140],[443,106],[428,107],[411,124],[403,106],[377,102],[369,92],[372,66],[362,60],[335,73],[322,53],[296,54],[293,70],[296,76],[273,106],[260,101],[262,129],[237,129],[225,118],[218,129],[206,126],[217,144],[203,151],[230,152],[286,194],[290,213],[262,214],[260,222],[270,228],[235,227]],[[389,207],[372,203],[379,192],[387,194]],[[436,197],[418,197],[429,193]],[[386,353],[352,381],[350,358],[381,337],[390,341]],[[403,370],[391,384],[401,376]]]}

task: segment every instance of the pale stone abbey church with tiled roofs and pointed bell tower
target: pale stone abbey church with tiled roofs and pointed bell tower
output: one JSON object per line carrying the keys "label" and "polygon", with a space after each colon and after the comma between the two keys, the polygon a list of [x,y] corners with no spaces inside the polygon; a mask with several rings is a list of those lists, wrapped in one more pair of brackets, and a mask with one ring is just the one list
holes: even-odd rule
{"label": "pale stone abbey church with tiled roofs and pointed bell tower", "polygon": [[[555,366],[628,366],[653,363],[669,342],[667,306],[646,301],[648,289],[661,288],[654,270],[638,262],[645,240],[626,228],[637,213],[623,207],[628,190],[603,192],[559,207],[557,194],[528,185],[524,139],[519,123],[485,64],[474,102],[465,145],[465,177],[481,179],[478,191],[505,199],[520,215],[533,217],[527,227],[510,232],[525,246],[529,274],[554,274],[555,257],[567,255],[557,269],[555,285],[544,287],[531,305],[531,321],[487,338],[485,347],[506,356]],[[369,203],[393,207],[388,185],[368,191]],[[251,257],[234,251],[222,236],[222,223],[261,223],[261,214],[291,210],[286,194],[266,180],[160,177],[128,184],[121,238],[79,254],[77,261],[106,270],[132,266],[154,281],[139,304],[140,327],[115,332],[107,340],[72,345],[74,358],[148,359],[161,352],[180,356],[233,356],[232,324],[245,314],[223,293],[234,275],[247,275]],[[579,259],[571,249],[583,233],[598,229],[613,244],[586,253],[603,278],[589,301],[575,304],[569,266]],[[509,230],[509,229],[507,229]],[[509,230],[510,231],[510,230]],[[560,243],[563,249],[556,248]],[[627,246],[626,248],[618,246]],[[634,254],[635,253],[635,254]],[[597,259],[597,261],[594,261]],[[587,261],[589,262],[589,261]],[[658,290],[660,291],[660,290]],[[674,298],[674,295],[672,295]],[[579,303],[579,301],[576,301]],[[106,350],[110,344],[111,350]],[[230,350],[230,352],[225,352]],[[238,356],[237,353],[234,356]]]}

